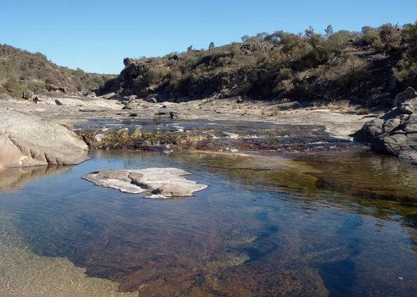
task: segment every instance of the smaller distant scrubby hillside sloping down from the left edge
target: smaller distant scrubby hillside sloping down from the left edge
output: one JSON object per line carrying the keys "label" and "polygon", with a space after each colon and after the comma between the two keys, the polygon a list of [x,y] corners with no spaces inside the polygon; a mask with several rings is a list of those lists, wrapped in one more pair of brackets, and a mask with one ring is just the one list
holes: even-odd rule
{"label": "smaller distant scrubby hillside sloping down from the left edge", "polygon": [[114,77],[60,67],[42,53],[0,44],[0,96],[22,96],[23,91],[86,92]]}

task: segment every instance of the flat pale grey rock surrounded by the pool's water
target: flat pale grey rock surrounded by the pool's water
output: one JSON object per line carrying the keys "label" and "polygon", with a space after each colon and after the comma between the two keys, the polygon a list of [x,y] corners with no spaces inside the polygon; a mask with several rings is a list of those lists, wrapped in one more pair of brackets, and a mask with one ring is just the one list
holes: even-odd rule
{"label": "flat pale grey rock surrounded by the pool's water", "polygon": [[111,187],[121,192],[139,194],[150,192],[147,198],[193,196],[193,192],[208,185],[183,178],[191,173],[177,168],[147,168],[137,170],[103,169],[88,173],[83,179],[95,185]]}

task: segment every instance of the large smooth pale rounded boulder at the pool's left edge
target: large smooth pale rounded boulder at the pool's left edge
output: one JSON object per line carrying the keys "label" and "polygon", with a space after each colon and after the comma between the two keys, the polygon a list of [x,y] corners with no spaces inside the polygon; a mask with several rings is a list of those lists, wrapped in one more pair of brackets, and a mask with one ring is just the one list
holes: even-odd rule
{"label": "large smooth pale rounded boulder at the pool's left edge", "polygon": [[87,144],[67,128],[13,110],[0,111],[0,168],[79,164]]}

